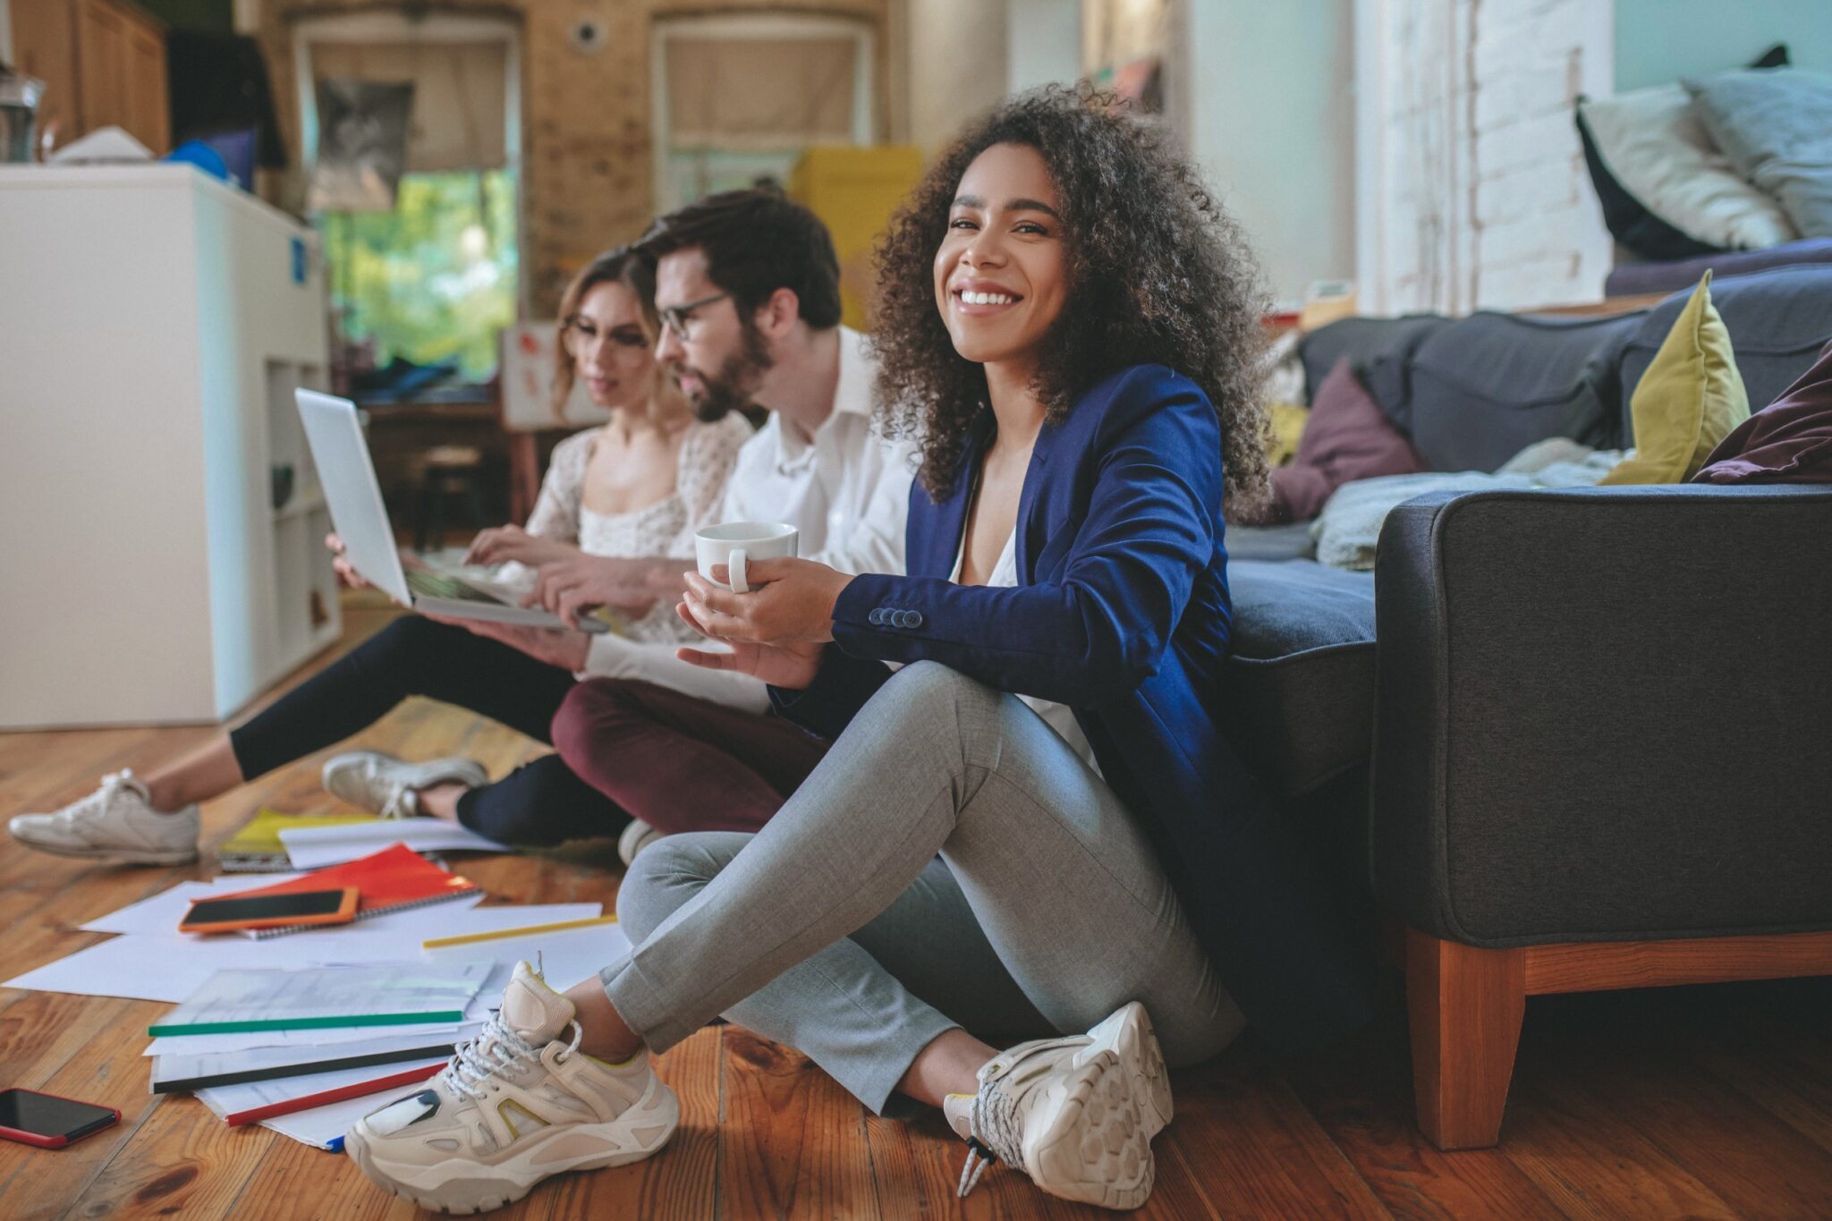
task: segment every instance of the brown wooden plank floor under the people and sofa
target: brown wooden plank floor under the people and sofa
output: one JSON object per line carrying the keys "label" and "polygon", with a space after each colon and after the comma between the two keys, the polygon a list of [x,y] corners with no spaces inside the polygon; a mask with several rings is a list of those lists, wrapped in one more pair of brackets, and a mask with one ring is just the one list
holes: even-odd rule
{"label": "brown wooden plank floor under the people and sofa", "polygon": [[[354,610],[344,644],[387,615]],[[322,659],[321,659],[322,663]],[[0,734],[0,816],[53,809],[119,767],[148,769],[203,729]],[[462,751],[493,773],[539,745],[414,701],[365,736],[405,756]],[[304,760],[203,811],[224,838],[256,805],[330,809]],[[601,899],[608,844],[474,859],[493,901]],[[77,926],[205,868],[84,868],[0,837],[0,978],[99,939]],[[0,1086],[121,1108],[60,1151],[0,1144],[0,1216],[405,1217],[341,1155],[229,1129],[189,1097],[150,1097],[145,1029],[165,1007],[0,990]],[[683,1120],[656,1159],[542,1184],[517,1217],[1074,1217],[1008,1170],[953,1197],[962,1148],[932,1115],[865,1113],[806,1058],[738,1029],[660,1060]],[[1150,1217],[1832,1216],[1832,981],[1528,1001],[1502,1146],[1433,1151],[1411,1120],[1398,990],[1350,1047],[1281,1060],[1251,1036],[1176,1078]]]}

